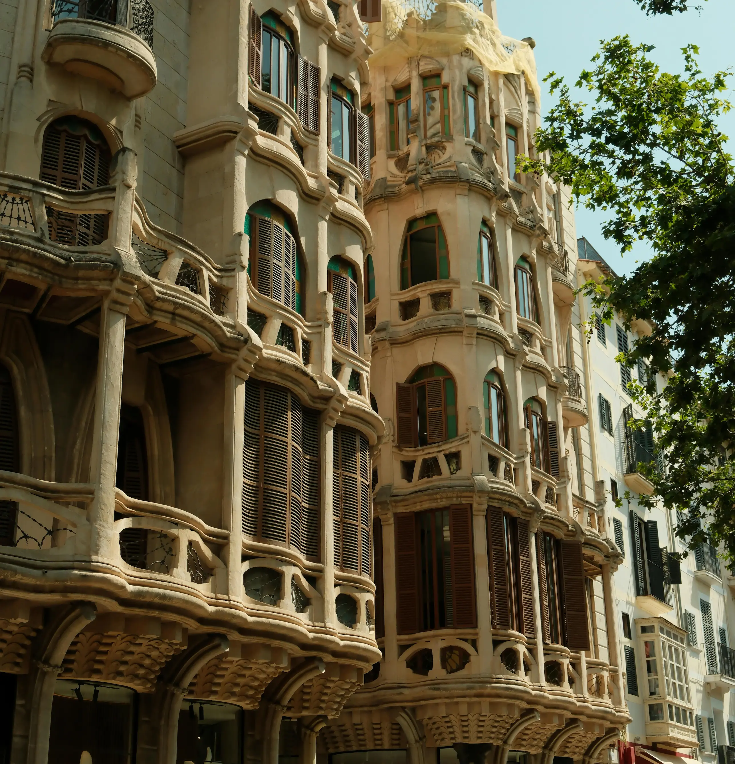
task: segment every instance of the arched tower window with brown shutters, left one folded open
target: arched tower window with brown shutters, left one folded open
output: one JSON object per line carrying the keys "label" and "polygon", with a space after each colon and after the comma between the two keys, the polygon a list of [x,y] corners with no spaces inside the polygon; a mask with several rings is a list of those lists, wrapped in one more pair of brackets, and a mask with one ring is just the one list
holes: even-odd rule
{"label": "arched tower window with brown shutters, left one folded open", "polygon": [[456,438],[454,380],[443,366],[423,366],[406,384],[395,387],[398,445],[412,447]]}

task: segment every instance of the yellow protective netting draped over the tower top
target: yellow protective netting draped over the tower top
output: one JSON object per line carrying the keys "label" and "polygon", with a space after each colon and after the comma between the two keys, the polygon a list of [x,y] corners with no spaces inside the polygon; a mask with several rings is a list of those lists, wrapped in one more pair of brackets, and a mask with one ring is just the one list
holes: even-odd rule
{"label": "yellow protective netting draped over the tower top", "polygon": [[370,66],[400,66],[417,56],[472,50],[492,72],[523,75],[538,97],[536,60],[528,43],[501,34],[472,2],[382,0],[382,21],[369,24]]}

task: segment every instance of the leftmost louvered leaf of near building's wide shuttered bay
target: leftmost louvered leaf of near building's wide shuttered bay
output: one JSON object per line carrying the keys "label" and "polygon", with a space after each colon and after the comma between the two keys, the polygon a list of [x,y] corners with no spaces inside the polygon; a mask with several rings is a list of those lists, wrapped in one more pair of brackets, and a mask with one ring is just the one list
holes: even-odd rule
{"label": "leftmost louvered leaf of near building's wide shuttered bay", "polygon": [[243,533],[261,534],[263,507],[263,385],[250,377],[245,383],[243,430]]}

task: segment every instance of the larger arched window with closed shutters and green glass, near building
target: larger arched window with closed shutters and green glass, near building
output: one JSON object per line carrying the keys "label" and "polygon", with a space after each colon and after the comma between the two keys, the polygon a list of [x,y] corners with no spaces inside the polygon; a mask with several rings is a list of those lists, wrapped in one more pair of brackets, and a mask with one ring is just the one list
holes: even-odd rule
{"label": "larger arched window with closed shutters and green glass, near building", "polygon": [[303,315],[301,254],[288,215],[271,202],[257,202],[245,215],[250,237],[247,271],[261,294]]}

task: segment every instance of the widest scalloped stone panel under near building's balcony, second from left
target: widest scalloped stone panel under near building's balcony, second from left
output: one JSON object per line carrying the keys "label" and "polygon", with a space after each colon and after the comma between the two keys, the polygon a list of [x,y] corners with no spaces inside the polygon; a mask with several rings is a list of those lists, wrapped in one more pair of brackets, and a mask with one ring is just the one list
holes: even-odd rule
{"label": "widest scalloped stone panel under near building's balcony, second from left", "polygon": [[60,678],[113,681],[150,692],[166,662],[185,649],[186,636],[178,623],[105,614],[75,637]]}

